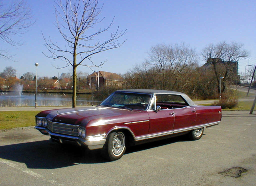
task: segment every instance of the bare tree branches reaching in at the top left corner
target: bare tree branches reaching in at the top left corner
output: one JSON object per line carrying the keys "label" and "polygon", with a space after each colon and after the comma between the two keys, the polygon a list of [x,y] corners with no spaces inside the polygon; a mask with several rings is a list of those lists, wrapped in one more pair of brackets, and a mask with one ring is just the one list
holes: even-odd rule
{"label": "bare tree branches reaching in at the top left corner", "polygon": [[[24,34],[35,21],[32,21],[32,11],[25,1],[0,2],[0,40],[12,46],[24,44],[13,36]],[[0,49],[0,57],[10,59],[12,55],[5,49]]]}

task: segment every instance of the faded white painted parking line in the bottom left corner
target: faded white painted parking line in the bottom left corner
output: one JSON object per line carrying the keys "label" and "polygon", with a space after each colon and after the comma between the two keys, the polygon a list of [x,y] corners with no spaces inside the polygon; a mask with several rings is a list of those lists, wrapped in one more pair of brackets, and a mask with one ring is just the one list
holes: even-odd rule
{"label": "faded white painted parking line in the bottom left corner", "polygon": [[51,183],[52,185],[56,185],[56,186],[65,186],[65,185],[63,185],[63,184],[58,184],[58,183],[57,183],[56,181],[54,181],[54,180],[47,180],[47,179],[46,179],[44,176],[42,176],[41,174],[38,174],[38,173],[33,172],[33,171],[31,171],[31,170],[26,170],[26,169],[24,169],[24,168],[21,168],[21,167],[19,167],[18,165],[14,164],[14,163],[12,163],[12,162],[9,162],[9,161],[7,161],[7,160],[5,160],[5,159],[0,158],[0,162],[1,162],[1,163],[4,163],[4,164],[6,164],[6,165],[8,165],[8,166],[10,166],[10,167],[13,167],[13,168],[15,168],[15,169],[17,169],[17,170],[21,170],[22,172],[25,172],[25,173],[29,174],[30,176],[33,176],[33,177],[35,177],[35,178],[40,178],[40,179],[42,179],[43,181],[47,181],[48,183]]}

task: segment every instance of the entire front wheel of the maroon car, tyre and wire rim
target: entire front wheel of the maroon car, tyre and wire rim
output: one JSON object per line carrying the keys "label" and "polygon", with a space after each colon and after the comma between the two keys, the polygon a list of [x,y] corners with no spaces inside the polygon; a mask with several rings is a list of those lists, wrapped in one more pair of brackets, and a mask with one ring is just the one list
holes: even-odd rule
{"label": "entire front wheel of the maroon car, tyre and wire rim", "polygon": [[125,136],[122,132],[111,132],[101,149],[102,156],[110,161],[120,159],[125,152]]}

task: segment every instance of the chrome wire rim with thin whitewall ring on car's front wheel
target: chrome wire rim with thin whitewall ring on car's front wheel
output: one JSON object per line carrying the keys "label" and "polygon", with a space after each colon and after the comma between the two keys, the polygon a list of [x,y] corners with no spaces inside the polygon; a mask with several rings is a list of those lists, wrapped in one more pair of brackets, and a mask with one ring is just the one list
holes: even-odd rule
{"label": "chrome wire rim with thin whitewall ring on car's front wheel", "polygon": [[123,153],[125,146],[125,138],[122,132],[115,134],[112,140],[112,152],[114,156],[119,156]]}

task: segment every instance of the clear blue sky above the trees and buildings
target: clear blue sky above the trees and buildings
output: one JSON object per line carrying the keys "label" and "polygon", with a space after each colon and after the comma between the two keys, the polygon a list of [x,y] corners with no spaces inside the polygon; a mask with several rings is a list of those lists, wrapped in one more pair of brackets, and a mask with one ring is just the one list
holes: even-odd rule
{"label": "clear blue sky above the trees and buildings", "polygon": [[[244,48],[251,52],[249,65],[256,63],[256,11],[255,0],[111,0],[104,3],[101,16],[106,17],[104,25],[114,19],[112,30],[118,26],[127,29],[126,35],[120,39],[126,42],[120,48],[109,50],[92,59],[95,62],[108,61],[101,69],[107,72],[124,74],[134,64],[140,64],[148,57],[151,46],[160,43],[172,44],[185,42],[196,47],[198,53],[209,43],[231,41],[244,43]],[[13,62],[0,59],[0,72],[6,66],[17,69],[17,76],[26,72],[35,73],[35,63],[38,76],[58,76],[71,68],[56,69],[51,64],[64,66],[60,60],[54,61],[44,56],[48,50],[44,46],[42,32],[45,37],[61,43],[60,34],[54,25],[54,1],[27,0],[36,19],[35,25],[26,34],[19,37],[25,41],[20,47],[9,47],[1,43],[1,48],[7,48],[16,54]],[[104,40],[104,38],[102,38]],[[49,54],[49,53],[48,53]],[[203,64],[203,61],[200,61]],[[248,60],[239,61],[239,71],[245,71]],[[78,67],[78,71],[92,71],[87,67]]]}

